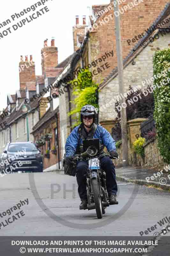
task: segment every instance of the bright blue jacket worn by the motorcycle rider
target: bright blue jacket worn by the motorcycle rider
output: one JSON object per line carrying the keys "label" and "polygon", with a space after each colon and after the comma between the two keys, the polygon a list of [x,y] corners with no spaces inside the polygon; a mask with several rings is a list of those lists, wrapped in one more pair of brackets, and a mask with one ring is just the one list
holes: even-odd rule
{"label": "bright blue jacket worn by the motorcycle rider", "polygon": [[[66,140],[66,157],[74,156],[76,153],[79,140],[78,128],[79,126],[75,127]],[[93,139],[100,139],[100,143],[103,143],[109,152],[116,151],[115,140],[112,138],[110,133],[102,126],[97,125],[97,130],[94,133]],[[82,143],[82,139],[80,139],[80,143]]]}

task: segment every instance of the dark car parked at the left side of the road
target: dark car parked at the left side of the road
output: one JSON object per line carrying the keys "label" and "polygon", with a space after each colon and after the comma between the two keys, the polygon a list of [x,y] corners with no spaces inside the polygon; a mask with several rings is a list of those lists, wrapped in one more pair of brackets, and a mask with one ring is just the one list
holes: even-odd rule
{"label": "dark car parked at the left side of the road", "polygon": [[[7,172],[43,172],[43,159],[40,150],[33,142],[9,142],[2,154],[3,170]],[[8,160],[8,161],[5,161]],[[8,162],[10,164],[8,164]]]}

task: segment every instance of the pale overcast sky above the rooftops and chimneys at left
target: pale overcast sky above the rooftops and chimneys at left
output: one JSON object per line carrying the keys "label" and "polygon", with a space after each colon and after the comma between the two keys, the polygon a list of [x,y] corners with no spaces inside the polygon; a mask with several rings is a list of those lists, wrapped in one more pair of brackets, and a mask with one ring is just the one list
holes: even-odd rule
{"label": "pale overcast sky above the rooftops and chimneys at left", "polygon": [[21,18],[12,21],[11,15],[20,13],[23,9],[35,3],[38,3],[38,1],[5,0],[1,5],[0,23],[2,24],[7,19],[10,19],[11,23],[0,28],[0,33],[9,27],[11,28],[11,33],[4,36],[4,38],[0,37],[0,110],[7,105],[7,94],[15,94],[16,90],[19,90],[18,65],[20,55],[33,55],[35,73],[36,75],[41,75],[41,48],[43,47],[44,39],[48,38],[48,43],[50,43],[51,38],[55,37],[55,46],[58,47],[58,62],[60,63],[73,53],[72,27],[76,24],[75,16],[79,15],[82,18],[82,15],[89,13],[87,6],[109,4],[110,0],[49,0],[44,6],[38,6],[35,11],[22,16],[22,19],[29,17],[33,12],[45,6],[48,7],[49,12],[30,23],[26,22],[25,26],[14,31],[12,26],[17,24]]}

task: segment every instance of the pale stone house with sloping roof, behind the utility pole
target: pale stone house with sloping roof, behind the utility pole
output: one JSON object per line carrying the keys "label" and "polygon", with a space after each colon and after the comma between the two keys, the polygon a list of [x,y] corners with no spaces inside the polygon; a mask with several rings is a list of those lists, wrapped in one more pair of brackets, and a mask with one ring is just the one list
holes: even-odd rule
{"label": "pale stone house with sloping roof, behind the utility pole", "polygon": [[[169,21],[169,22],[168,22]],[[127,92],[129,85],[131,87],[138,87],[143,89],[143,86],[152,85],[149,81],[153,76],[153,62],[152,57],[155,51],[168,48],[170,46],[170,4],[166,5],[163,12],[156,17],[152,25],[155,27],[158,24],[162,24],[159,29],[152,31],[151,34],[146,34],[134,47],[133,50],[123,60],[123,82],[124,89]],[[149,38],[154,38],[154,41],[150,42]],[[147,46],[142,45],[147,42]],[[100,85],[99,105],[100,105],[100,123],[111,132],[111,128],[114,126],[115,119],[115,98],[119,95],[118,87],[118,72],[117,68],[114,68],[112,72],[105,78],[104,82]]]}

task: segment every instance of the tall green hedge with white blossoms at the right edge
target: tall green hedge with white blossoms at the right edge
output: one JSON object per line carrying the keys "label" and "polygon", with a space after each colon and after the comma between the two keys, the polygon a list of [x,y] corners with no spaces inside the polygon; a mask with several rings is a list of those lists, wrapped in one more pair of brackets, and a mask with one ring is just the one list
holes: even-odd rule
{"label": "tall green hedge with white blossoms at the right edge", "polygon": [[170,49],[156,51],[153,56],[154,119],[158,147],[166,163],[170,163]]}

